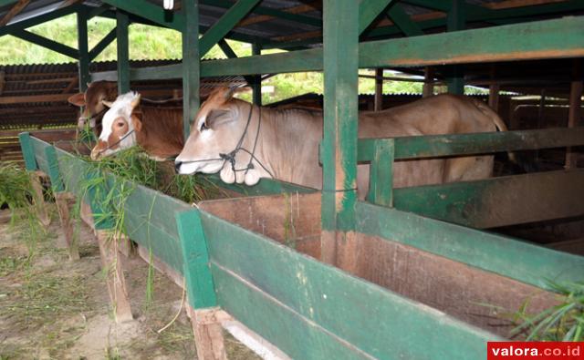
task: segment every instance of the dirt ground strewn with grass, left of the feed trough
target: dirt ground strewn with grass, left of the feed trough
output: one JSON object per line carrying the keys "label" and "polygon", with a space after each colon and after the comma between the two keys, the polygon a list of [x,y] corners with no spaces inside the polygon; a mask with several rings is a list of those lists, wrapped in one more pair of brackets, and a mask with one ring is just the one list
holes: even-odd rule
{"label": "dirt ground strewn with grass, left of the feed trough", "polygon": [[[51,214],[47,234],[30,246],[32,256],[26,225],[0,221],[0,360],[196,358],[184,310],[158,333],[181,308],[182,289],[154,271],[147,292],[149,266],[130,258],[125,273],[135,320],[115,324],[92,232],[78,227],[81,260],[69,262],[55,245],[62,233],[55,209]],[[230,359],[258,358],[228,334],[225,343]]]}

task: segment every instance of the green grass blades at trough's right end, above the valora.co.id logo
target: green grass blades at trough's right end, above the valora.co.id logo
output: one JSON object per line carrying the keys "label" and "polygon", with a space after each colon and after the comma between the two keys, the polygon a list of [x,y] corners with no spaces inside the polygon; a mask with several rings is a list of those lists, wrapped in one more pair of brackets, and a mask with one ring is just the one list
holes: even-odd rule
{"label": "green grass blades at trough's right end, above the valora.co.id logo", "polygon": [[584,282],[550,283],[561,295],[558,305],[539,314],[527,314],[527,300],[514,314],[511,335],[527,333],[527,340],[584,341]]}

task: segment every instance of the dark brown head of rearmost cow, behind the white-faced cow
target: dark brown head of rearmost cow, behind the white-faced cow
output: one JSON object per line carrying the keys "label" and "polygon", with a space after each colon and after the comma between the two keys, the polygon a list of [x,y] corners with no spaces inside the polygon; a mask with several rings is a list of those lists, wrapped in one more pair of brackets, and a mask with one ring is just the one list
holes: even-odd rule
{"label": "dark brown head of rearmost cow, behind the white-faced cow", "polygon": [[[89,120],[89,126],[92,129],[99,128],[96,124],[96,117],[102,113],[106,107],[103,101],[113,101],[118,96],[118,86],[111,81],[96,81],[88,84],[84,93],[78,93],[70,98],[68,102],[79,108],[83,108],[81,116],[78,119],[78,128],[82,129]],[[101,129],[98,129],[101,131]]]}

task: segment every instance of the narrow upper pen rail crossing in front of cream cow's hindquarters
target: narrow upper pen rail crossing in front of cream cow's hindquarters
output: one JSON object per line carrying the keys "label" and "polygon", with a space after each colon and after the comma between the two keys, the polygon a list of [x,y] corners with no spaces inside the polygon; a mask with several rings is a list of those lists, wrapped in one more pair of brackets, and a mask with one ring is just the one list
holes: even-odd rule
{"label": "narrow upper pen rail crossing in front of cream cow's hindquarters", "polygon": [[[360,139],[358,160],[370,161],[379,139]],[[395,159],[421,159],[584,145],[584,127],[395,138]]]}

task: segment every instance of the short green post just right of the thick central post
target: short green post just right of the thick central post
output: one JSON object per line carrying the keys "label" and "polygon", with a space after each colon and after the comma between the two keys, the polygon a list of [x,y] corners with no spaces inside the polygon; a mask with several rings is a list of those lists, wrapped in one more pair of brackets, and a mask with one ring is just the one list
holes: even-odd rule
{"label": "short green post just right of the thick central post", "polygon": [[383,206],[393,206],[393,139],[378,139],[375,142],[369,174],[367,201]]}

